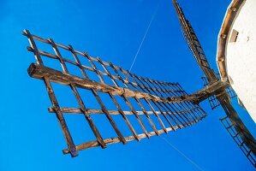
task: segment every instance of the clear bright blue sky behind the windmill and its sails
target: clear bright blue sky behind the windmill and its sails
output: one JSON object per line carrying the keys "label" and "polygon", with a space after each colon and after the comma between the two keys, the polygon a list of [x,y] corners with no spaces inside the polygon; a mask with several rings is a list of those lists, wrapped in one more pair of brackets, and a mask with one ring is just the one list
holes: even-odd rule
{"label": "clear bright blue sky behind the windmill and its sails", "polygon": [[[211,66],[216,68],[217,33],[230,0],[179,2]],[[1,171],[197,170],[158,137],[140,143],[113,144],[105,150],[80,151],[75,158],[63,156],[66,144],[56,116],[47,111],[51,103],[45,85],[27,74],[28,66],[35,60],[27,52],[23,29],[130,68],[157,4],[157,0],[0,1]],[[180,82],[188,92],[202,88],[202,73],[182,38],[170,0],[160,0],[158,14],[132,73]],[[69,103],[65,96],[63,100]],[[209,114],[204,121],[162,136],[204,170],[253,170],[218,120],[223,110],[211,111],[208,103],[202,106]],[[243,109],[237,109],[256,135],[255,123]],[[86,129],[80,128],[86,125],[83,118],[69,119],[76,136],[86,135]]]}

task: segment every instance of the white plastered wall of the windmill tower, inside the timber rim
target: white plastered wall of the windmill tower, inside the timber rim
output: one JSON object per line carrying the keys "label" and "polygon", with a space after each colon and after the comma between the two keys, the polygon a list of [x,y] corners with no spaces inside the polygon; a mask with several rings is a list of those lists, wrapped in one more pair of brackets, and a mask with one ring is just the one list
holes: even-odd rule
{"label": "white plastered wall of the windmill tower, inside the timber rim", "polygon": [[256,122],[256,0],[247,0],[236,15],[226,46],[229,82]]}

